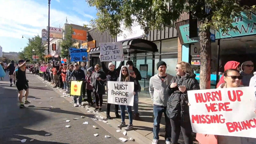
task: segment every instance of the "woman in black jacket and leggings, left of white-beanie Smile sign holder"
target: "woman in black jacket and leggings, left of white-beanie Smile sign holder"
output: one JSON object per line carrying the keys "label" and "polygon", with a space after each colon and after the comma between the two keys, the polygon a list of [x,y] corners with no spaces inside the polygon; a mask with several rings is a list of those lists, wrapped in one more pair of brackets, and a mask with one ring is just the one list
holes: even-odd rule
{"label": "woman in black jacket and leggings, left of white-beanie Smile sign holder", "polygon": [[[96,108],[94,109],[94,111],[98,111],[101,112],[102,111],[102,103],[103,103],[103,99],[102,99],[102,95],[105,94],[105,82],[107,80],[106,74],[104,73],[104,71],[100,70],[100,65],[96,64],[94,66],[95,69],[95,83],[94,83],[94,95],[95,95],[95,101],[96,101]],[[100,105],[99,105],[100,102]]]}

